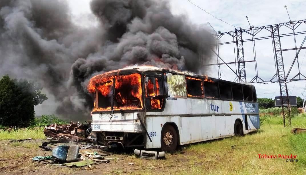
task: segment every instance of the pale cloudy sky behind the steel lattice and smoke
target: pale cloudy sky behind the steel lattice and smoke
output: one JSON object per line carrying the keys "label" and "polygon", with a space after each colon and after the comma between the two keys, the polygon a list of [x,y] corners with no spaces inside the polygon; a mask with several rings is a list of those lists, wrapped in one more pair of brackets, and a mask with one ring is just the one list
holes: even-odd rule
{"label": "pale cloudy sky behind the steel lattice and smoke", "polygon": [[[229,1],[206,1],[206,0],[190,0],[192,3],[196,4],[203,10],[211,13],[218,19],[225,21],[229,24],[226,24],[215,17],[212,17],[208,13],[199,9],[193,5],[188,0],[170,0],[171,10],[176,15],[186,15],[192,23],[205,26],[213,30],[207,24],[209,22],[215,31],[228,32],[235,30],[235,27],[241,27],[242,29],[249,28],[249,24],[259,27],[265,25],[278,24],[282,22],[288,22],[289,17],[284,6],[288,8],[289,16],[292,21],[302,20],[306,18],[306,12],[304,7],[306,6],[306,1],[303,0],[270,0],[270,1],[238,1],[238,0],[229,0]],[[84,27],[90,27],[95,25],[95,20],[92,14],[90,13],[89,2],[85,0],[68,0],[69,6],[71,8],[73,19],[79,25]],[[233,25],[233,26],[232,26]],[[306,31],[306,24],[302,24],[296,30]],[[292,32],[289,29],[280,29],[280,33],[289,33]],[[270,33],[260,32],[262,36],[269,36]],[[301,41],[304,39],[305,35],[298,35],[297,46],[300,46]],[[250,38],[247,34],[243,34],[244,39]],[[258,36],[260,37],[260,36]],[[222,37],[219,42],[226,42],[232,40],[231,37]],[[293,48],[294,39],[293,37],[282,37],[281,38],[282,48]],[[264,80],[270,80],[275,74],[274,66],[274,55],[272,49],[272,42],[270,40],[260,40],[255,42],[256,48],[256,59],[258,66],[258,74],[260,78]],[[304,58],[306,54],[306,49],[301,50],[299,54],[300,72],[306,76],[306,70],[304,67]],[[233,62],[235,59],[233,45],[223,45],[219,47],[219,55],[226,62]],[[237,55],[236,55],[237,56]],[[254,60],[252,42],[244,43],[244,56],[245,60]],[[295,51],[286,51],[283,53],[283,59],[285,64],[285,73],[288,72],[289,66],[293,61],[295,56]],[[306,62],[306,60],[305,60]],[[216,55],[213,55],[212,63],[216,63]],[[235,70],[235,66],[231,65],[232,69]],[[208,75],[214,78],[218,78],[218,72],[216,66],[205,67],[209,69]],[[226,66],[221,66],[221,78],[228,81],[233,81],[235,75],[231,70]],[[293,67],[290,76],[293,77],[297,74],[297,65]],[[255,66],[254,62],[246,63],[246,75],[247,81],[250,81],[255,76]],[[289,76],[289,77],[290,77]],[[254,84],[257,89],[258,97],[268,97],[274,98],[279,96],[279,84],[278,83],[269,83],[269,84]],[[287,84],[289,95],[300,96],[302,97],[302,92],[306,87],[306,81],[290,82]],[[304,93],[306,95],[306,92]],[[304,97],[305,98],[305,97]]]}

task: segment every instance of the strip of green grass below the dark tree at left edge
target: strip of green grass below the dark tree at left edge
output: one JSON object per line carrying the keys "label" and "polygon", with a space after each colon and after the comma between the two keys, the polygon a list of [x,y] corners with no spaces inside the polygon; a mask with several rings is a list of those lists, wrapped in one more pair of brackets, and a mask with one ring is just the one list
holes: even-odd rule
{"label": "strip of green grass below the dark tree at left edge", "polygon": [[42,128],[22,128],[8,131],[0,131],[0,140],[6,139],[44,139]]}

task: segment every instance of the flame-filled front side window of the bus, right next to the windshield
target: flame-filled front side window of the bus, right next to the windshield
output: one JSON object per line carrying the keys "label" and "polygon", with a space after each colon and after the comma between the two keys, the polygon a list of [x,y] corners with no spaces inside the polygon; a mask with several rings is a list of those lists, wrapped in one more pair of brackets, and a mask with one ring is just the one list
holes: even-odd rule
{"label": "flame-filled front side window of the bus, right next to the windshield", "polygon": [[156,98],[163,95],[161,77],[146,77],[146,105],[148,109],[161,109],[164,99]]}

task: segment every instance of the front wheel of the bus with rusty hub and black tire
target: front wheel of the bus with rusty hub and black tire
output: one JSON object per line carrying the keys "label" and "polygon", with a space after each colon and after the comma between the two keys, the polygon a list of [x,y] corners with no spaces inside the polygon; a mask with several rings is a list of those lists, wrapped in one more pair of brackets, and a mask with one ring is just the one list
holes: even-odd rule
{"label": "front wheel of the bus with rusty hub and black tire", "polygon": [[162,128],[161,148],[163,151],[175,151],[178,142],[178,135],[173,126],[167,124]]}

